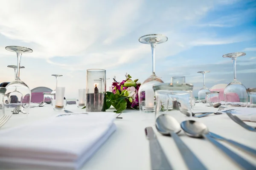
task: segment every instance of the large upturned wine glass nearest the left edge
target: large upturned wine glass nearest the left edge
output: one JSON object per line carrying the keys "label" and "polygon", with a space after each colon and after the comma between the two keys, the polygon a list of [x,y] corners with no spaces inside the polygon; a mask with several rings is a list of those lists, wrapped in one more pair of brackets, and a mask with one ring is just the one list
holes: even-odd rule
{"label": "large upturned wine glass nearest the left edge", "polygon": [[6,50],[16,52],[17,54],[17,71],[15,80],[6,86],[6,108],[15,108],[17,110],[22,109],[23,114],[29,113],[31,91],[29,87],[20,80],[20,59],[23,53],[32,53],[33,50],[20,46],[7,46]]}

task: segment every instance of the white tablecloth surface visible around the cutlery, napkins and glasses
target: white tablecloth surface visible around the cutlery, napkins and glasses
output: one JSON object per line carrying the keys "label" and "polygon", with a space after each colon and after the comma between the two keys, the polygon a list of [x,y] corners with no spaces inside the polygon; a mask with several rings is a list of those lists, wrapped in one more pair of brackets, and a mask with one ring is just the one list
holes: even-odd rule
{"label": "white tablecloth surface visible around the cutlery, napkins and glasses", "polygon": [[[77,108],[76,105],[67,105],[66,110],[73,112],[85,111]],[[109,109],[108,111],[113,111],[113,109]],[[193,112],[200,111],[217,111],[217,108],[210,108],[204,106],[202,103],[196,103]],[[9,122],[1,127],[0,130],[47,119],[49,116],[59,113],[64,112],[53,111],[51,105],[31,108],[28,117],[21,118],[18,115],[13,115],[11,119],[9,119]],[[116,132],[114,132],[94,156],[84,164],[81,170],[150,170],[149,143],[145,137],[144,131],[145,127],[148,126],[154,128],[157,138],[172,164],[172,167],[175,170],[187,170],[173,139],[169,136],[162,136],[154,127],[154,113],[140,113],[140,111],[126,110],[120,116],[122,116],[123,119],[116,119]],[[179,122],[185,120],[184,116],[175,114],[173,116]],[[226,114],[213,114],[204,118],[192,119],[203,122],[213,133],[217,133],[218,135],[233,139],[236,142],[246,144],[256,149],[256,132],[242,128],[233,122]],[[256,123],[253,122],[247,123],[249,125],[256,125]],[[186,136],[183,131],[179,133],[179,136],[209,170],[240,169],[233,161],[225,156],[224,153],[207,140],[191,138]],[[255,157],[244,153],[230,144],[225,142],[221,143],[256,166]]]}

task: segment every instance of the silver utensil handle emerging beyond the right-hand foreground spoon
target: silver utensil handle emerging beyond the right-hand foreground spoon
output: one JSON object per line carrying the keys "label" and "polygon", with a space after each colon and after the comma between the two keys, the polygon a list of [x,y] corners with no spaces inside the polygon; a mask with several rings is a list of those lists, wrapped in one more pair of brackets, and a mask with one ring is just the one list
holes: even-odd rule
{"label": "silver utensil handle emerging beyond the right-hand foreground spoon", "polygon": [[239,147],[240,149],[246,151],[247,153],[250,153],[253,156],[256,156],[256,150],[251,148],[251,147],[247,147],[244,144],[240,144],[240,143],[238,143],[236,141],[233,141],[233,140],[230,140],[230,139],[226,139],[226,138],[224,138],[222,136],[219,136],[219,135],[217,135],[215,133],[212,133],[212,132],[210,132],[210,136],[215,138],[215,139],[219,139],[219,140],[223,140],[223,141],[229,142],[230,144],[233,144],[234,146]]}

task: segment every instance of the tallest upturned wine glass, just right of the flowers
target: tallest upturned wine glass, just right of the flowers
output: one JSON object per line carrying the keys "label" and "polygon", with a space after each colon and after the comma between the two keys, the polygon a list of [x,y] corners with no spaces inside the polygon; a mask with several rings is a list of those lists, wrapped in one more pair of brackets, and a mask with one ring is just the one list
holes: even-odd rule
{"label": "tallest upturned wine glass, just right of the flowers", "polygon": [[155,74],[155,47],[157,44],[166,42],[168,38],[161,34],[149,34],[140,37],[139,41],[143,44],[150,44],[152,51],[152,74],[141,85],[138,91],[140,111],[155,112],[155,96],[153,85],[163,83],[160,77]]}

